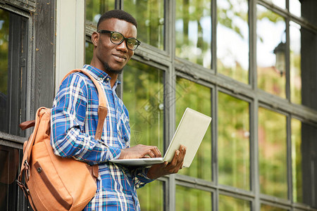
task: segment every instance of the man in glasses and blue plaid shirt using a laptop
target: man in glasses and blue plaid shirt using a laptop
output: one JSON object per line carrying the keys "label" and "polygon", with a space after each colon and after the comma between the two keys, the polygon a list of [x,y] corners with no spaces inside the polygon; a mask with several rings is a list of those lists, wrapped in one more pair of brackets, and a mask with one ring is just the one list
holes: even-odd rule
{"label": "man in glasses and blue plaid shirt using a laptop", "polygon": [[128,110],[116,95],[118,75],[139,45],[137,22],[124,11],[108,11],[101,16],[92,34],[94,53],[84,65],[95,77],[107,98],[101,141],[94,139],[98,122],[98,95],[92,81],[80,72],[69,75],[61,84],[51,109],[51,144],[54,153],[99,165],[97,193],[85,210],[140,210],[136,188],[182,168],[186,149],[180,147],[170,163],[150,168],[123,167],[111,159],[161,157],[156,146],[130,147]]}

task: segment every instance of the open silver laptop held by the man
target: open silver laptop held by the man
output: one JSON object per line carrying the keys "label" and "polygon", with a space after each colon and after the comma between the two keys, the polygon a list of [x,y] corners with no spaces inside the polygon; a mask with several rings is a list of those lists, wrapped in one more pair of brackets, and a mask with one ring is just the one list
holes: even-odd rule
{"label": "open silver laptop held by the man", "polygon": [[175,151],[180,148],[180,145],[183,145],[187,147],[183,167],[189,167],[192,164],[192,160],[197,153],[210,122],[211,117],[192,110],[191,108],[186,108],[184,115],[182,115],[182,120],[180,120],[180,124],[178,124],[178,129],[176,129],[163,158],[118,159],[110,160],[110,162],[129,166],[151,166],[165,161],[171,162]]}

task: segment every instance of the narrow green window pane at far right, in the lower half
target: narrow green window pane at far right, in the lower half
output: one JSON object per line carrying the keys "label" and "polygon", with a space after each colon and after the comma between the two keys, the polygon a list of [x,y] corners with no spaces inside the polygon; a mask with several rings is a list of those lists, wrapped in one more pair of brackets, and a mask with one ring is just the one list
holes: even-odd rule
{"label": "narrow green window pane at far right, in the lower half", "polygon": [[294,202],[303,202],[302,122],[292,119],[292,182]]}

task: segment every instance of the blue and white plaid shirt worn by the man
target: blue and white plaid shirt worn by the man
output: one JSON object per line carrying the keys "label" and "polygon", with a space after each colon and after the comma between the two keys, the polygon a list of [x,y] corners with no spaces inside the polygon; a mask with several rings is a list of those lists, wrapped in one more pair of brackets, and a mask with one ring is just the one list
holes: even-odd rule
{"label": "blue and white plaid shirt worn by the man", "polygon": [[[98,94],[93,82],[81,72],[69,75],[59,87],[51,109],[51,145],[61,157],[73,157],[99,165],[97,193],[85,210],[140,210],[136,188],[152,181],[147,168],[128,169],[112,162],[130,146],[128,110],[111,88],[106,72],[90,65],[87,70],[104,87],[108,115],[101,141],[94,139],[98,122]],[[106,126],[106,127],[105,127]]]}

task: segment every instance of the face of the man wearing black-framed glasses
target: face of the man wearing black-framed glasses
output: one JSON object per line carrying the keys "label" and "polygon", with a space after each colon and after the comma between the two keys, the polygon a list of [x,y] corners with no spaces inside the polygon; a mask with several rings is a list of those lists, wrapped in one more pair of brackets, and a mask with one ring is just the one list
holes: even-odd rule
{"label": "face of the man wearing black-framed glasses", "polygon": [[[137,28],[132,23],[116,18],[106,19],[99,24],[98,30],[120,32],[124,37],[137,37]],[[94,44],[94,58],[91,65],[108,74],[119,74],[123,67],[133,56],[134,51],[127,48],[125,41],[121,44],[113,44],[110,41],[111,34],[92,34]]]}

